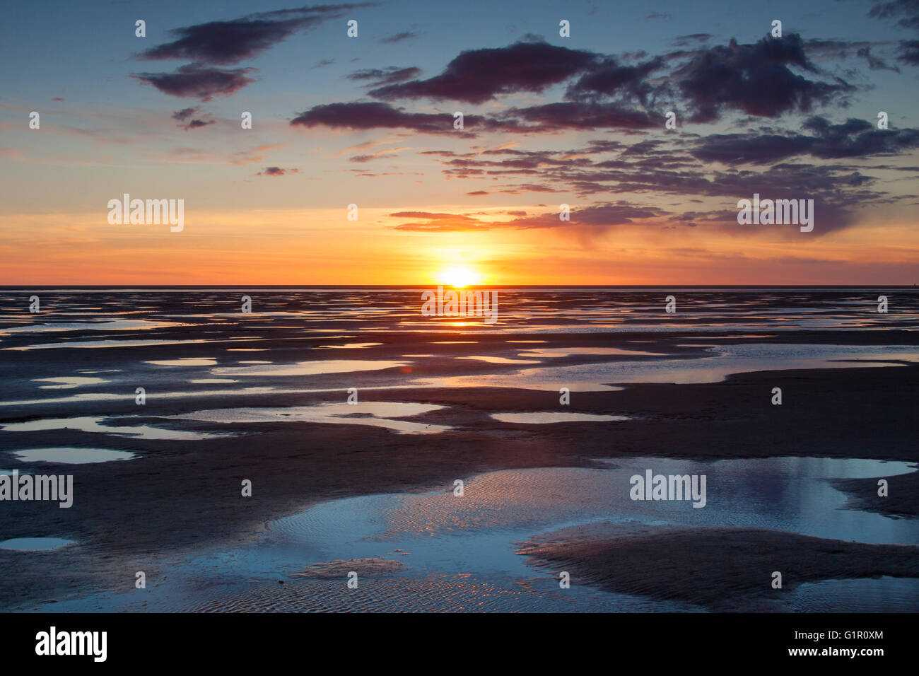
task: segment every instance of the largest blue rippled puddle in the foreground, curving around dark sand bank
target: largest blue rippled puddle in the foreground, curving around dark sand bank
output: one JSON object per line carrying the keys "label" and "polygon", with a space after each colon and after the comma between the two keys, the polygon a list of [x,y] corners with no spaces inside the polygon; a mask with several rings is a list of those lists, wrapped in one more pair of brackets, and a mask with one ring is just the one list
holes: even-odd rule
{"label": "largest blue rippled puddle in the foreground, curving around dark sand bank", "polygon": [[[707,506],[630,499],[630,476],[649,468],[664,475],[707,475]],[[860,459],[701,463],[631,457],[598,461],[596,468],[468,476],[462,496],[445,482],[422,494],[337,499],[271,521],[253,544],[177,562],[168,579],[144,596],[144,610],[698,611],[698,606],[586,585],[573,584],[559,593],[550,573],[516,555],[517,543],[538,533],[613,522],[772,529],[850,542],[915,544],[919,521],[847,510],[845,495],[826,480],[870,480],[913,471],[908,463]],[[342,592],[346,570],[362,576],[361,594]],[[289,584],[278,585],[279,578]],[[787,602],[802,611],[864,611],[876,607],[872,604],[880,594],[914,612],[916,590],[915,579],[824,580],[802,585]],[[109,594],[68,602],[66,608],[79,610],[89,603],[117,611],[137,602],[130,595]],[[55,608],[60,611],[62,605]]]}

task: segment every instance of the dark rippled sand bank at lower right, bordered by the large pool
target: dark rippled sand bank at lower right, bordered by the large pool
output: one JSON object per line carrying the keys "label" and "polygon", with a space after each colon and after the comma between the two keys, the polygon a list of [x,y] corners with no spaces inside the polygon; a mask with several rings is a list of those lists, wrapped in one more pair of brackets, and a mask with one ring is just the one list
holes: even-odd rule
{"label": "dark rippled sand bank at lower right, bordered by the large pool", "polygon": [[[579,526],[532,538],[517,554],[571,583],[718,612],[781,611],[789,591],[827,579],[919,578],[919,547],[859,544],[754,528]],[[782,589],[772,589],[773,571]],[[879,609],[882,610],[882,609]]]}

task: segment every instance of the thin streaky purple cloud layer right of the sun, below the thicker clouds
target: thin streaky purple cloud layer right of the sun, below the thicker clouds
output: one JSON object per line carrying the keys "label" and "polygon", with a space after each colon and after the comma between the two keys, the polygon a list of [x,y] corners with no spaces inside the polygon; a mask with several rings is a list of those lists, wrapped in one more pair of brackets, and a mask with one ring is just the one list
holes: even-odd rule
{"label": "thin streaky purple cloud layer right of the sun, below the thicker clouds", "polygon": [[[885,133],[888,135],[885,136]],[[526,177],[526,182],[482,185],[492,193],[573,193],[579,201],[589,201],[592,197],[602,199],[617,193],[645,194],[653,196],[657,204],[672,196],[678,201],[714,199],[731,208],[742,198],[751,199],[754,193],[759,193],[764,199],[812,199],[818,212],[814,236],[820,236],[857,223],[857,214],[861,210],[889,202],[902,202],[904,198],[877,189],[874,185],[877,179],[863,174],[857,166],[776,162],[803,153],[819,155],[823,159],[892,155],[907,152],[917,143],[919,138],[913,130],[876,130],[868,120],[833,124],[823,118],[811,118],[805,123],[804,132],[797,134],[766,129],[760,133],[721,134],[702,139],[693,134],[668,135],[632,143],[628,147],[603,140],[588,143],[584,150],[520,151],[503,148],[478,154],[450,155],[449,151],[429,151],[428,154],[441,157],[440,161],[445,166],[443,174],[448,178],[472,181]],[[591,148],[596,148],[597,152],[588,152]],[[605,152],[614,156],[603,157]],[[713,170],[709,163],[714,161],[774,166],[763,171],[747,168]],[[560,200],[570,201],[571,198]],[[629,206],[648,209],[637,204]],[[584,208],[578,211],[583,212]],[[612,216],[617,214],[636,222],[642,222],[641,219],[647,216],[621,209],[591,210],[584,212],[580,223],[584,226],[615,224]],[[692,213],[679,223],[695,223],[698,227],[730,227],[733,224],[736,227],[736,211],[733,220]],[[530,217],[527,222],[505,223],[500,227],[549,227],[550,224],[554,221],[544,215]],[[421,229],[430,231],[441,226],[441,229],[448,227],[444,223],[425,223]],[[476,228],[481,228],[481,225],[477,224]],[[759,234],[760,231],[755,232],[755,235]]]}

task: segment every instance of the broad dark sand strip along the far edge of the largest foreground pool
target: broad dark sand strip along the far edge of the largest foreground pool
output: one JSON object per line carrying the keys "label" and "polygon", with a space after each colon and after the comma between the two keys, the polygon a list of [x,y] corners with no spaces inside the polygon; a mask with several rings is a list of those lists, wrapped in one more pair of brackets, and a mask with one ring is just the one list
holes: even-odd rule
{"label": "broad dark sand strip along the far edge of the largest foreground pool", "polygon": [[[800,404],[787,399],[782,407],[770,406],[767,393],[778,382]],[[141,462],[109,463],[103,472],[94,465],[55,470],[74,475],[77,499],[69,510],[40,502],[5,505],[6,537],[52,534],[79,544],[69,548],[65,566],[45,555],[22,567],[17,553],[0,551],[0,598],[11,608],[119,584],[130,589],[136,570],[150,575],[171,556],[245,542],[266,521],[317,502],[437,483],[448,487],[459,476],[498,469],[583,466],[590,458],[625,455],[718,459],[806,453],[914,460],[915,408],[899,391],[917,386],[916,366],[747,373],[723,384],[634,385],[579,402],[581,412],[631,420],[551,425],[500,423],[489,414],[549,409],[558,401],[554,393],[397,391],[385,398],[448,406],[424,419],[455,430],[435,438],[290,423],[255,425],[253,434],[194,441],[190,447],[130,440],[126,446],[142,455]],[[17,435],[24,447],[61,443],[60,431]],[[81,442],[85,437],[74,432],[66,445]],[[48,471],[45,467],[30,465],[33,472]],[[253,482],[252,498],[241,498],[246,478]],[[891,479],[891,486],[903,480]],[[870,479],[848,483],[877,486]],[[916,491],[896,491],[897,510],[916,509]],[[49,579],[55,580],[51,588]]]}

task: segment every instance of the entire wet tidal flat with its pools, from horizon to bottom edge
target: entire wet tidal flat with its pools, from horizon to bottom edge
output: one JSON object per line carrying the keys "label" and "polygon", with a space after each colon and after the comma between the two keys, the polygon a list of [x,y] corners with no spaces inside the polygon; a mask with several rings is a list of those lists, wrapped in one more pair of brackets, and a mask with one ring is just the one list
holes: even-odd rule
{"label": "entire wet tidal flat with its pools, from horizon to bottom edge", "polygon": [[2,610],[919,610],[914,291],[39,293],[0,299],[0,470],[74,504],[0,503]]}

